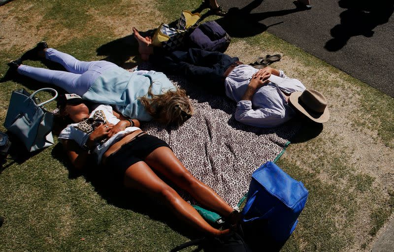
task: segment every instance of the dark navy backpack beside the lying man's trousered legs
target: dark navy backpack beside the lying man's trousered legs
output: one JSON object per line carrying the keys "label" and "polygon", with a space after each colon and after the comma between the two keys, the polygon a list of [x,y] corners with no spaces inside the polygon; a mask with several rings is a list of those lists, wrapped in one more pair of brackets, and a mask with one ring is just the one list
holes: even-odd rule
{"label": "dark navy backpack beside the lying man's trousered legs", "polygon": [[230,45],[230,35],[215,21],[200,24],[189,36],[189,47],[224,53]]}

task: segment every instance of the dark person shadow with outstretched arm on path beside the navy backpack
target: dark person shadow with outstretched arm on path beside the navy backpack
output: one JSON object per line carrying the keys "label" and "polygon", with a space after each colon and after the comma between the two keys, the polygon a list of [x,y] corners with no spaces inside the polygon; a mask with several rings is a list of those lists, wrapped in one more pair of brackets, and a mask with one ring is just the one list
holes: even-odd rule
{"label": "dark person shadow with outstretched arm on path beside the navy backpack", "polygon": [[254,0],[243,8],[230,8],[227,15],[215,20],[223,29],[229,33],[231,37],[250,37],[262,32],[265,32],[268,27],[281,24],[279,22],[266,26],[261,23],[269,17],[279,17],[303,11],[302,8],[294,8],[289,10],[267,11],[260,13],[251,13],[253,9],[257,8],[263,0]]}

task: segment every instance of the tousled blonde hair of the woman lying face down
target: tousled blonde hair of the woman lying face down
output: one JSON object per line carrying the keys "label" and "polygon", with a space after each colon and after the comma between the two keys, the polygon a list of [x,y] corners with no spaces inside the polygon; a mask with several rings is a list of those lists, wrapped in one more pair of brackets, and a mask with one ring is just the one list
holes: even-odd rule
{"label": "tousled blonde hair of the woman lying face down", "polygon": [[139,99],[156,121],[165,125],[180,126],[193,115],[190,98],[183,89],[175,88],[161,95],[153,95],[151,87],[148,90],[151,97],[142,96]]}

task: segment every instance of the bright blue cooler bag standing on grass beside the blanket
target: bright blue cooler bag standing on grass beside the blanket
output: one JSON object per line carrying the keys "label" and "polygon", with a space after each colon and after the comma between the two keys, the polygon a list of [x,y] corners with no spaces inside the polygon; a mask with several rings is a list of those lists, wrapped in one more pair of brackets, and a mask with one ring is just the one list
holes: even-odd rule
{"label": "bright blue cooler bag standing on grass beside the blanket", "polygon": [[302,182],[271,161],[253,172],[241,213],[245,238],[251,247],[260,245],[264,251],[279,251],[296,228],[307,197]]}

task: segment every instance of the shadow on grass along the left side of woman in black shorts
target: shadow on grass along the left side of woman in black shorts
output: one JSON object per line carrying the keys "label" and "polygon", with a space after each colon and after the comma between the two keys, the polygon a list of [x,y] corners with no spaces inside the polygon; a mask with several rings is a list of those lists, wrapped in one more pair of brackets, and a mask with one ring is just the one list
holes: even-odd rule
{"label": "shadow on grass along the left side of woman in black shorts", "polygon": [[[79,171],[68,161],[61,143],[52,149],[51,154],[53,158],[58,159],[64,164],[68,170],[69,179],[76,179],[83,176],[86,182],[90,183],[108,204],[149,216],[156,221],[162,221],[173,230],[190,239],[203,236],[202,233],[197,232],[194,228],[190,228],[186,223],[177,219],[173,213],[157,200],[152,199],[140,191],[124,188],[122,186],[123,181],[119,177],[116,177],[113,173],[99,165],[94,165],[94,160],[88,162],[92,165],[87,165],[83,171]],[[176,188],[166,179],[161,178],[172,188]]]}

